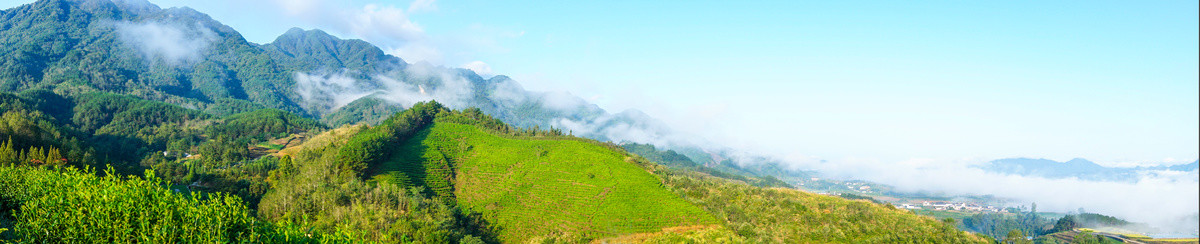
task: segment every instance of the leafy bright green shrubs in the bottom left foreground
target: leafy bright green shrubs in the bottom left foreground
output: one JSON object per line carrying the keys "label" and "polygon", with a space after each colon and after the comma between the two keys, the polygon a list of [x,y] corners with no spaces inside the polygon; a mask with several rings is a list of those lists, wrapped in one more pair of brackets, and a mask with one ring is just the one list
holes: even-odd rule
{"label": "leafy bright green shrubs in the bottom left foreground", "polygon": [[293,224],[254,219],[240,198],[182,195],[145,179],[74,168],[0,167],[0,214],[13,219],[18,242],[49,243],[329,243],[355,234],[322,236]]}

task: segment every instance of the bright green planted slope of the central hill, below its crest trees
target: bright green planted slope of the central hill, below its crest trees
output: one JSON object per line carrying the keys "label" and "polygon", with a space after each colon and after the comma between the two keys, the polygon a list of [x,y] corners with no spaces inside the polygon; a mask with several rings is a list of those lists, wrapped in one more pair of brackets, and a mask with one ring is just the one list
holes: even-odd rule
{"label": "bright green planted slope of the central hill, below its crest trees", "polygon": [[437,123],[400,147],[394,160],[372,167],[376,180],[426,185],[446,200],[456,197],[498,226],[505,242],[716,224],[630,159],[584,142],[503,138],[472,125]]}

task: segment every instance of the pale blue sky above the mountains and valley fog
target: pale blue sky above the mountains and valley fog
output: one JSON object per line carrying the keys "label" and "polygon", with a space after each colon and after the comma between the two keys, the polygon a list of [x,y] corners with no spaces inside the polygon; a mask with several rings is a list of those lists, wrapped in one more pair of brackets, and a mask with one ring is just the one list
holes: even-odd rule
{"label": "pale blue sky above the mountains and valley fog", "polygon": [[791,160],[1132,165],[1200,148],[1196,1],[151,2],[259,43],[319,28],[409,61],[479,61]]}

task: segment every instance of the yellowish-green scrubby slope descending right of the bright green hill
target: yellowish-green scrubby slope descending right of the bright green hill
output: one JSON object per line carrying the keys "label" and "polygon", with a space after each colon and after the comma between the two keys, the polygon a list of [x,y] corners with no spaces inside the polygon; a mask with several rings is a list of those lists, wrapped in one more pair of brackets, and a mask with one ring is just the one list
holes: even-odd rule
{"label": "yellowish-green scrubby slope descending right of the bright green hill", "polygon": [[988,243],[932,218],[782,188],[756,188],[695,172],[659,171],[668,189],[726,222],[749,243]]}

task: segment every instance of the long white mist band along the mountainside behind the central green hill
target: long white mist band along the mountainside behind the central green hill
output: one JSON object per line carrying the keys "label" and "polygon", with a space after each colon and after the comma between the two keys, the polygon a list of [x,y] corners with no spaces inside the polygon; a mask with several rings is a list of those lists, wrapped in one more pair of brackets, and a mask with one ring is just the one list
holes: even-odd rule
{"label": "long white mist band along the mountainside behind the central green hill", "polygon": [[[529,91],[508,78],[473,82],[460,71],[462,70],[414,64],[403,70],[376,75],[356,71],[296,72],[294,81],[296,93],[304,100],[302,105],[318,114],[331,113],[365,96],[383,99],[402,107],[437,100],[456,109],[480,107],[517,126],[539,125],[576,136],[648,143],[662,148],[691,145],[673,136],[662,123],[637,111],[611,114],[569,93]],[[481,94],[486,96],[479,96]]]}

